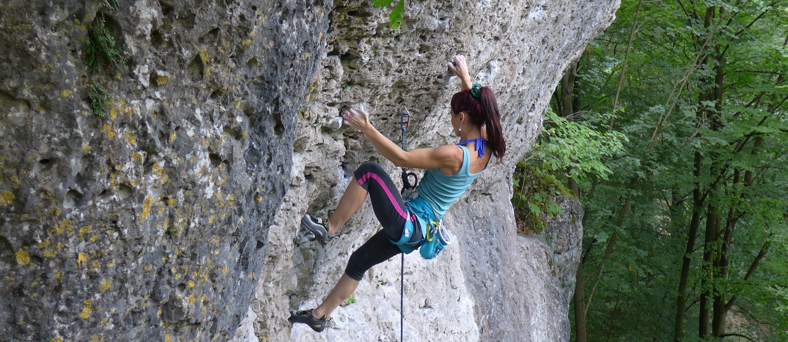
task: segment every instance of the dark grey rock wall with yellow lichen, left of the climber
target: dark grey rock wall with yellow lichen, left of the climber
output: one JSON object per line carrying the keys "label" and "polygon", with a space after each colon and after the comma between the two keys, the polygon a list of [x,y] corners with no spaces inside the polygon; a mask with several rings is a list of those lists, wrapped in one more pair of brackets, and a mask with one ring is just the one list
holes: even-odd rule
{"label": "dark grey rock wall with yellow lichen, left of the climber", "polygon": [[[331,5],[2,2],[0,340],[236,333]],[[125,66],[85,65],[97,20]]]}

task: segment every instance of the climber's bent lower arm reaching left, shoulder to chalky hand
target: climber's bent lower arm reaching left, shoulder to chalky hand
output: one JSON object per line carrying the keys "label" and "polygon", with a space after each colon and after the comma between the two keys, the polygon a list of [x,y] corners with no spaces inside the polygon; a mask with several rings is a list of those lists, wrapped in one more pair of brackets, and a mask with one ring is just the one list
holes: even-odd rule
{"label": "climber's bent lower arm reaching left, shoulder to chalky hand", "polygon": [[377,132],[364,110],[348,110],[342,113],[342,118],[346,124],[364,133],[375,149],[394,165],[415,169],[459,168],[463,165],[463,151],[452,145],[403,151]]}

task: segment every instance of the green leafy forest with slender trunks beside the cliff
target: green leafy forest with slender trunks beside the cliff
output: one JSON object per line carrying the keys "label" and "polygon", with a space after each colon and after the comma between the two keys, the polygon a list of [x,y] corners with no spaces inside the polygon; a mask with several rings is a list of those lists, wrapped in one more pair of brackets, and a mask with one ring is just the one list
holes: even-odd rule
{"label": "green leafy forest with slender trunks beside the cliff", "polygon": [[622,3],[515,173],[585,210],[573,340],[788,341],[788,1]]}

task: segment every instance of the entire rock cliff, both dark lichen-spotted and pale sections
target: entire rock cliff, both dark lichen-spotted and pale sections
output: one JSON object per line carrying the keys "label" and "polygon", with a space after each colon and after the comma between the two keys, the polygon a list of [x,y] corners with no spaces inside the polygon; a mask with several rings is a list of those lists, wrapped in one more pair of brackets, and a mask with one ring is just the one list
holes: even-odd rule
{"label": "entire rock cliff, both dark lichen-spotted and pale sections", "polygon": [[[2,339],[394,340],[396,261],[322,335],[291,332],[287,311],[319,303],[380,229],[365,205],[322,248],[298,221],[329,214],[379,158],[337,125],[342,104],[395,141],[407,106],[409,148],[456,142],[445,63],[462,53],[496,91],[508,151],[449,210],[457,242],[406,257],[406,337],[568,340],[581,214],[564,203],[550,243],[517,236],[510,177],[563,70],[618,6],[408,1],[394,31],[368,0],[2,2]],[[85,65],[100,20],[125,63]],[[106,117],[91,84],[108,91]]]}

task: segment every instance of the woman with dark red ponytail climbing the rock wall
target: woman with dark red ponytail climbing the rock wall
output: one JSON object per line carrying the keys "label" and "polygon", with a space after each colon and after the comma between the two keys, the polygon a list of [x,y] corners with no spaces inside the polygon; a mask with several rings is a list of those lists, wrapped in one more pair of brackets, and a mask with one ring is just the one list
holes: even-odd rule
{"label": "woman with dark red ponytail climbing the rock wall", "polygon": [[[306,323],[314,331],[322,332],[326,322],[331,320],[329,314],[355,291],[366,270],[403,251],[418,248],[425,222],[437,221],[434,213],[442,217],[478,174],[487,168],[492,156],[504,157],[506,142],[501,132],[495,95],[487,87],[470,84],[462,55],[456,55],[454,65],[450,62],[448,67],[462,80],[462,90],[452,96],[449,113],[454,133],[460,140],[456,145],[403,151],[370,125],[366,111],[345,110],[341,113],[344,124],[364,133],[375,149],[394,165],[426,171],[415,188],[418,195],[411,195],[405,201],[381,166],[366,162],[353,173],[353,180],[328,220],[304,215],[302,225],[325,245],[336,238],[336,231],[359,210],[366,195],[370,195],[375,216],[383,229],[353,252],[345,273],[320,306],[312,310],[291,311],[290,321]],[[469,153],[469,148],[476,153]],[[411,234],[410,239],[408,234]]]}

